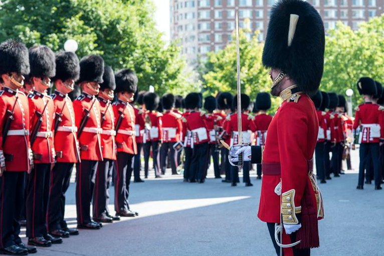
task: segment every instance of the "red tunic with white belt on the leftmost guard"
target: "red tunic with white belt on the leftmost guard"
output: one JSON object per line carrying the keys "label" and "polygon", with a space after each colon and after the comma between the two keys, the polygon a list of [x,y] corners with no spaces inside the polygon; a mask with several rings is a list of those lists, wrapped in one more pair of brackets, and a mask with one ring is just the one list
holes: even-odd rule
{"label": "red tunic with white belt on the leftmost guard", "polygon": [[[15,105],[16,95],[18,96]],[[11,121],[11,126],[8,134],[11,132],[21,132],[20,135],[8,135],[6,142],[3,144],[3,132],[0,132],[0,150],[4,154],[8,154],[13,159],[6,159],[7,171],[27,171],[30,169],[30,160],[28,150],[30,146],[29,138],[29,105],[28,98],[21,91],[15,91],[4,87],[0,90],[0,130],[3,131],[6,122],[7,110],[12,111],[14,108],[14,119]]]}

